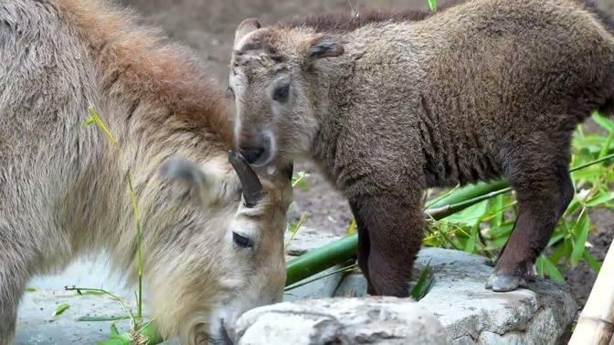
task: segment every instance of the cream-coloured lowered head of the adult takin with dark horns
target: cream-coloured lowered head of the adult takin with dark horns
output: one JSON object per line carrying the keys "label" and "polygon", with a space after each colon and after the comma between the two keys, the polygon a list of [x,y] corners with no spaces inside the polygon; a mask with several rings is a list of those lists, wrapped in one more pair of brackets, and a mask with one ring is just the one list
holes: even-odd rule
{"label": "cream-coloured lowered head of the adult takin with dark horns", "polygon": [[166,161],[149,217],[164,230],[150,244],[143,226],[148,308],[182,343],[226,343],[244,311],[282,298],[291,166],[260,181],[238,154],[228,160]]}

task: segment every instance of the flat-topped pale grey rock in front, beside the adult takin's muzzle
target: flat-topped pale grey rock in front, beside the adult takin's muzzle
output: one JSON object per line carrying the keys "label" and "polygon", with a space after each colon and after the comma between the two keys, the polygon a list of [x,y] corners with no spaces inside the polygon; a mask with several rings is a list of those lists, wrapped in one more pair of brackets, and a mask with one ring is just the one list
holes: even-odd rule
{"label": "flat-topped pale grey rock in front, beside the adult takin's muzzle", "polygon": [[325,298],[256,308],[236,324],[238,344],[447,344],[445,329],[410,299]]}

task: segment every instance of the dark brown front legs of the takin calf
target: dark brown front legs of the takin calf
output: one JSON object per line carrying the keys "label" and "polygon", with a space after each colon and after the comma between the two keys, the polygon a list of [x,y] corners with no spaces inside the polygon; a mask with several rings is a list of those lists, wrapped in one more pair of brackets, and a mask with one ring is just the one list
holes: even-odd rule
{"label": "dark brown front legs of the takin calf", "polygon": [[366,240],[359,243],[358,263],[372,295],[408,297],[424,231],[421,191],[415,193],[417,197],[385,194],[351,202],[359,242]]}

